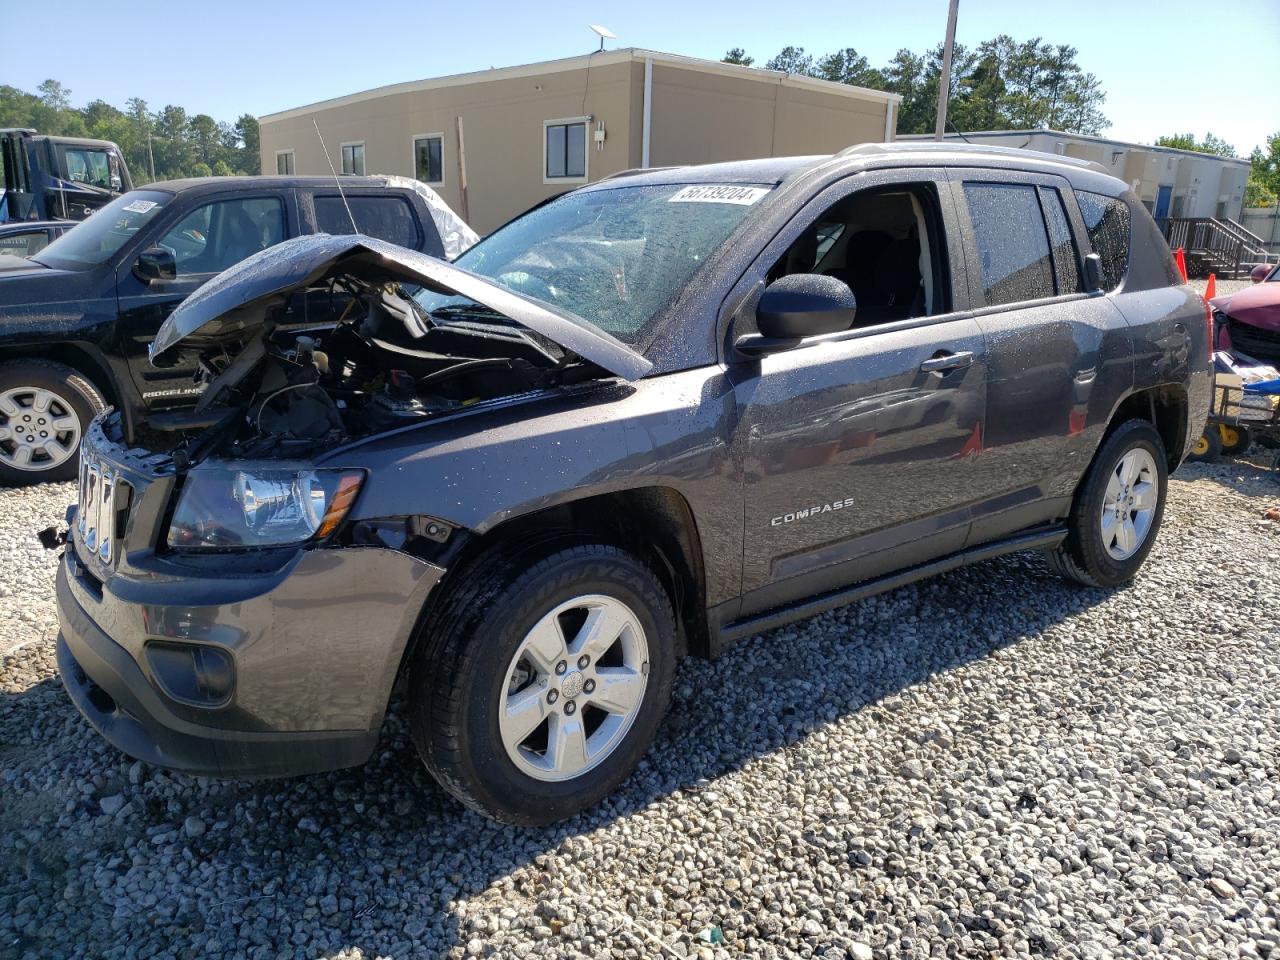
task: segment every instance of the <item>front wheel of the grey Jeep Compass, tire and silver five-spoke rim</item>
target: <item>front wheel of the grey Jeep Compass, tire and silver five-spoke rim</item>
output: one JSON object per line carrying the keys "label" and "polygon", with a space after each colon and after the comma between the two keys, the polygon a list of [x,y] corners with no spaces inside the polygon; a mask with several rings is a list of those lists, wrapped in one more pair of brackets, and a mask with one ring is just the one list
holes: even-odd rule
{"label": "front wheel of the grey Jeep Compass, tire and silver five-spoke rim", "polygon": [[604,544],[494,554],[421,637],[410,727],[453,796],[506,823],[571,817],[609,794],[667,712],[676,620],[654,573]]}

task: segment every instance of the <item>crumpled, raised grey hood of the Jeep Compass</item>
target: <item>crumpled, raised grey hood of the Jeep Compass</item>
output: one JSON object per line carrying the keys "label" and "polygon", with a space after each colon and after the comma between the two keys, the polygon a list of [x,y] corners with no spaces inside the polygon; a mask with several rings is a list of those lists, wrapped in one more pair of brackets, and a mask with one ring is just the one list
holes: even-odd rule
{"label": "crumpled, raised grey hood of the Jeep Compass", "polygon": [[252,333],[269,329],[273,310],[293,292],[344,275],[367,283],[398,280],[466,297],[627,380],[637,380],[653,367],[625,343],[566,310],[393,243],[360,234],[324,233],[268,247],[218,274],[164,321],[151,343],[151,360],[178,343],[212,347],[243,342]]}

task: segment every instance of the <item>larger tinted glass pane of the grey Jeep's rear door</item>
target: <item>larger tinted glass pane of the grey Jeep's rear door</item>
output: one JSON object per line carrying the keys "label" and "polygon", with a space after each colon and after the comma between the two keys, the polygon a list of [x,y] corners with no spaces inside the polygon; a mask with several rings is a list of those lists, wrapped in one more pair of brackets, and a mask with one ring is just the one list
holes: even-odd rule
{"label": "larger tinted glass pane of the grey Jeep's rear door", "polygon": [[966,183],[965,200],[982,260],[988,305],[1053,296],[1053,265],[1036,188]]}

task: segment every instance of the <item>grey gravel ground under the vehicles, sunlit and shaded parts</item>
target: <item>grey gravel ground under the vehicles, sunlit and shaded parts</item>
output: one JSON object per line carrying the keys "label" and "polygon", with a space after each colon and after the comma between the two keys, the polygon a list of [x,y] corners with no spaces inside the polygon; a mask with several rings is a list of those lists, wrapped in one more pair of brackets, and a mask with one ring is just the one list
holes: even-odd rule
{"label": "grey gravel ground under the vehicles, sunlit and shaded parts", "polygon": [[1280,483],[1184,467],[1138,581],[1009,557],[687,662],[548,829],[362,769],[146,768],[68,703],[69,485],[0,490],[0,956],[1280,957]]}

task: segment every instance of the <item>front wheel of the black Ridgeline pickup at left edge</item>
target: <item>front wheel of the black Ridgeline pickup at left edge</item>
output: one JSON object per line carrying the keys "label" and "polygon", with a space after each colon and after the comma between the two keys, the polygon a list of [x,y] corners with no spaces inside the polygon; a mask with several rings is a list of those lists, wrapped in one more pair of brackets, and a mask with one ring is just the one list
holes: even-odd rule
{"label": "front wheel of the black Ridgeline pickup at left edge", "polygon": [[65,364],[0,364],[0,483],[74,480],[81,436],[104,407],[93,384]]}

